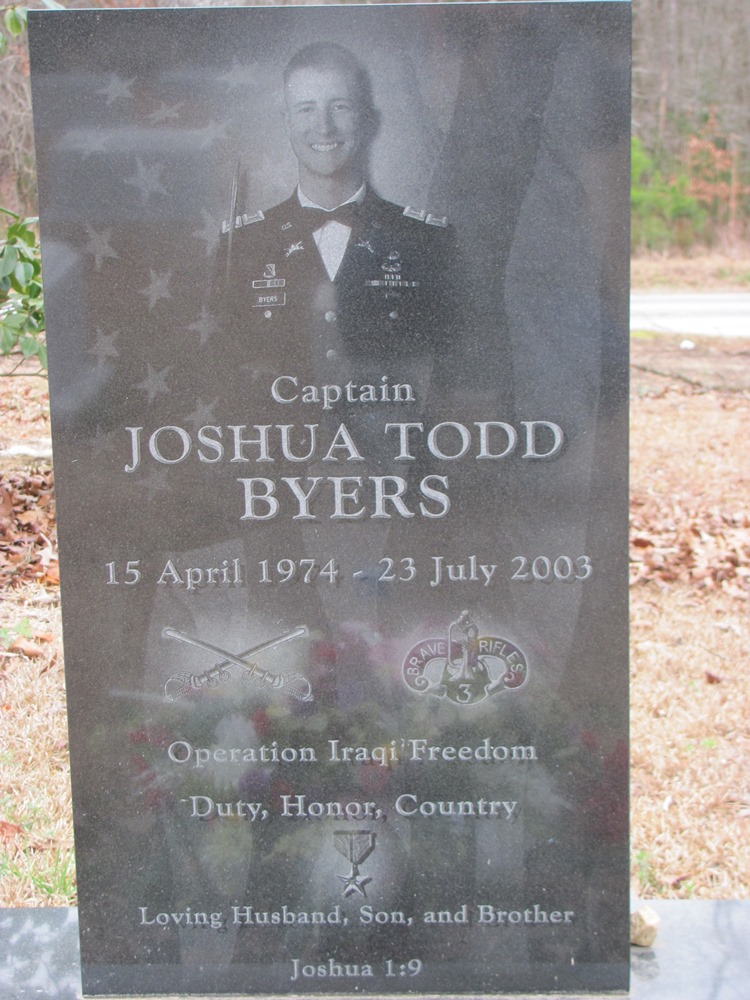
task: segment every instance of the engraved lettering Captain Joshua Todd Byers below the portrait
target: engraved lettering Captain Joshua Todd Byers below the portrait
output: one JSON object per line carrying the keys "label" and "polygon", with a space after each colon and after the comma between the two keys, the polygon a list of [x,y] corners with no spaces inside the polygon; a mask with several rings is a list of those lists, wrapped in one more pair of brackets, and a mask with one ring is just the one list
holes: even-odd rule
{"label": "engraved lettering Captain Joshua Todd Byers below the portrait", "polygon": [[[356,389],[356,392],[355,392]],[[308,390],[315,390],[309,392]],[[325,391],[323,391],[325,390]],[[296,402],[321,403],[330,409],[333,402],[346,398],[360,403],[393,402],[408,405],[415,401],[409,385],[299,387],[294,375],[280,376],[271,387],[277,405]],[[319,424],[207,424],[190,433],[176,424],[148,431],[126,427],[130,438],[130,459],[125,473],[141,467],[146,456],[160,465],[180,465],[192,455],[193,461],[217,463],[304,463],[313,460],[331,463],[359,463],[367,459],[362,442],[356,440],[346,423],[335,429]],[[549,461],[563,450],[562,428],[550,420],[520,420],[514,426],[504,420],[482,420],[464,424],[444,420],[433,426],[421,421],[392,421],[383,426],[384,439],[392,447],[396,462],[414,462],[426,452],[438,462],[455,462],[465,457],[476,461],[498,461],[516,456],[522,460]],[[144,447],[145,446],[145,447]],[[363,517],[427,519],[443,518],[451,508],[450,483],[445,475],[423,476],[411,486],[402,476],[268,476],[237,477],[242,487],[242,521],[268,521],[279,515],[296,521],[359,520]]]}

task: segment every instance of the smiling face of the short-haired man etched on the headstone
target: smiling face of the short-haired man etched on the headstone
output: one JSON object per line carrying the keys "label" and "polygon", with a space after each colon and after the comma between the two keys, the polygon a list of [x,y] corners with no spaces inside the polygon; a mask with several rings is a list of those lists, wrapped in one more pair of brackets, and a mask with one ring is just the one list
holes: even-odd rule
{"label": "smiling face of the short-haired man etched on the headstone", "polygon": [[352,76],[335,66],[300,67],[287,81],[285,98],[302,186],[308,175],[341,180],[361,175],[365,128]]}

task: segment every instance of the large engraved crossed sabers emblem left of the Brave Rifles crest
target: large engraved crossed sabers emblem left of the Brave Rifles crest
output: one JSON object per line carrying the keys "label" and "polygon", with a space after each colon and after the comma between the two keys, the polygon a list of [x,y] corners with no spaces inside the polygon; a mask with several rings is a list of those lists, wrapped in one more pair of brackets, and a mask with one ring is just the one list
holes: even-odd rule
{"label": "large engraved crossed sabers emblem left of the Brave Rifles crest", "polygon": [[266,649],[273,649],[274,646],[278,646],[282,642],[288,642],[290,639],[297,639],[301,635],[307,635],[307,628],[304,625],[293,628],[289,632],[282,632],[281,635],[277,635],[274,639],[267,639],[265,642],[261,642],[257,646],[251,646],[250,649],[245,649],[237,654],[230,653],[220,646],[214,646],[213,643],[205,642],[203,639],[196,639],[194,636],[186,635],[176,628],[165,628],[162,630],[162,635],[165,639],[177,639],[179,642],[188,643],[190,646],[197,646],[199,649],[204,649],[206,652],[213,653],[215,656],[222,658],[219,663],[215,663],[213,667],[209,667],[202,674],[172,674],[164,685],[164,696],[167,701],[176,701],[178,698],[183,698],[202,688],[216,687],[228,681],[231,676],[229,668],[233,666],[242,667],[244,680],[253,681],[259,687],[268,686],[274,691],[283,691],[298,701],[313,700],[310,682],[302,674],[294,672],[274,674],[270,670],[264,670],[257,663],[252,663],[248,660],[249,656],[254,656],[256,653],[262,653]]}

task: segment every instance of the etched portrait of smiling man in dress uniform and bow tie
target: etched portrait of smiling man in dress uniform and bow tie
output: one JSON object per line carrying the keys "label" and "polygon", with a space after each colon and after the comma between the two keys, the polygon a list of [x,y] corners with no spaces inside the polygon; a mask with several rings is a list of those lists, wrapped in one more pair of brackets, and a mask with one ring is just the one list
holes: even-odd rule
{"label": "etched portrait of smiling man in dress uniform and bow tie", "polygon": [[326,378],[433,358],[450,325],[454,232],[446,218],[373,190],[380,114],[366,70],[343,46],[313,43],[291,58],[283,85],[299,181],[280,205],[233,206],[224,223],[236,336],[260,361],[294,358]]}

